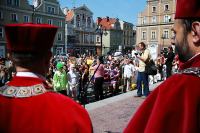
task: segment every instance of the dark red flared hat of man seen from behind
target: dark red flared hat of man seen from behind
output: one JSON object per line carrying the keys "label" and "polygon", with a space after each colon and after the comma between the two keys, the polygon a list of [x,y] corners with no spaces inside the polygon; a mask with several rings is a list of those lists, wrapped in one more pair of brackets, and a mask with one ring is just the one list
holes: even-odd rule
{"label": "dark red flared hat of man seen from behind", "polygon": [[50,51],[57,27],[48,24],[9,24],[5,26],[7,49],[13,52]]}

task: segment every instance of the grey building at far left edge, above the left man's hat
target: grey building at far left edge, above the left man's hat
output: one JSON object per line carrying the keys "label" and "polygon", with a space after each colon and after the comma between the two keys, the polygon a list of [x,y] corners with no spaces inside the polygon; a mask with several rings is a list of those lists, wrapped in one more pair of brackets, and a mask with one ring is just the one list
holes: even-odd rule
{"label": "grey building at far left edge, above the left man's hat", "polygon": [[0,56],[6,57],[4,26],[10,23],[31,22],[33,8],[27,0],[0,0]]}

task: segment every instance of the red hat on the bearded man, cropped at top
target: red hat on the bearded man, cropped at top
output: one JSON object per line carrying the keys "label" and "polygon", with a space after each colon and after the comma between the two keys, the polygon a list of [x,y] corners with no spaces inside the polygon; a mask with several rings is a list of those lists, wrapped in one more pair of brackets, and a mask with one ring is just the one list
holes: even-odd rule
{"label": "red hat on the bearded man, cropped at top", "polygon": [[175,19],[200,18],[200,0],[177,0]]}

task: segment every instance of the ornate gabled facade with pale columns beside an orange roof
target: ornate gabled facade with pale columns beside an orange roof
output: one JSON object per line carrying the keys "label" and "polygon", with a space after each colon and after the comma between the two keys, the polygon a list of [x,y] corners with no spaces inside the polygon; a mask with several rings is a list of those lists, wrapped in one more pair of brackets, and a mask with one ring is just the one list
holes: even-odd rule
{"label": "ornate gabled facade with pale columns beside an orange roof", "polygon": [[93,13],[86,5],[73,9],[64,9],[66,14],[67,51],[73,55],[96,55],[95,23]]}

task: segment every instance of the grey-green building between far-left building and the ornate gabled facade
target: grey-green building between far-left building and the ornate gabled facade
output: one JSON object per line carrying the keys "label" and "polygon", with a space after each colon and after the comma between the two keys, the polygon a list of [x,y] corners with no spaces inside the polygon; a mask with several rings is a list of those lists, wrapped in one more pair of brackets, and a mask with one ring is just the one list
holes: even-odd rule
{"label": "grey-green building between far-left building and the ornate gabled facade", "polygon": [[58,27],[54,40],[53,54],[65,54],[65,15],[58,0],[33,0],[33,23],[46,23]]}

